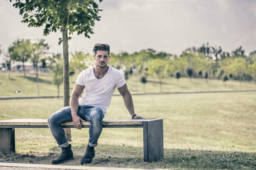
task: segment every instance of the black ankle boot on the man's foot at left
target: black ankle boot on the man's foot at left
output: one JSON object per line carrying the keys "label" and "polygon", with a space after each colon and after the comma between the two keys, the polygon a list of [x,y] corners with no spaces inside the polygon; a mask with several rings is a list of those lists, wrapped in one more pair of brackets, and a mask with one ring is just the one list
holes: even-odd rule
{"label": "black ankle boot on the man's foot at left", "polygon": [[60,155],[56,159],[52,160],[52,164],[61,164],[66,162],[67,160],[74,159],[71,145],[69,145],[67,148],[61,148],[61,150],[62,152],[60,153]]}

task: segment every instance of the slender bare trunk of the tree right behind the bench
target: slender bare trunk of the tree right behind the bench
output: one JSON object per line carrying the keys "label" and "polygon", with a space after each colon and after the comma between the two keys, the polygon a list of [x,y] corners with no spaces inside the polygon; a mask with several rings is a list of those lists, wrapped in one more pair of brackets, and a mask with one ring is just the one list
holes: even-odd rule
{"label": "slender bare trunk of the tree right behind the bench", "polygon": [[[63,44],[63,84],[64,84],[64,107],[69,106],[69,63],[68,63],[68,30],[67,24],[62,23],[62,44]],[[71,141],[71,130],[65,128],[66,138]]]}

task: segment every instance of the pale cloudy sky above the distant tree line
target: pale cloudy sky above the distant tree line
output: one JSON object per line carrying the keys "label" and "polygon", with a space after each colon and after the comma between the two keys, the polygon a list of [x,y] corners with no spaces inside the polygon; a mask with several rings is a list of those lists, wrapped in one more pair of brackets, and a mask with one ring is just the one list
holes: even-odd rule
{"label": "pale cloudy sky above the distant tree line", "polygon": [[[72,35],[71,53],[92,53],[96,43],[108,43],[115,53],[152,48],[179,55],[207,42],[226,52],[239,46],[246,54],[256,51],[256,0],[103,0],[99,7],[103,11],[95,34],[90,39]],[[19,9],[0,0],[0,45],[5,51],[18,38],[43,38],[50,52],[62,53],[61,33],[43,36],[43,28],[28,28],[21,19]]]}

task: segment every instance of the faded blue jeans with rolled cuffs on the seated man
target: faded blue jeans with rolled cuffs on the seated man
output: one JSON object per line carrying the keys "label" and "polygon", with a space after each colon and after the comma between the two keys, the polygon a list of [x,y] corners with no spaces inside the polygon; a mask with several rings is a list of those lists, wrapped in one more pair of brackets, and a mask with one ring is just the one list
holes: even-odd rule
{"label": "faded blue jeans with rolled cuffs on the seated man", "polygon": [[[79,105],[77,114],[81,119],[90,122],[88,145],[97,146],[98,138],[102,131],[101,121],[104,118],[102,109],[94,106]],[[70,106],[59,109],[48,118],[48,126],[59,147],[67,147],[69,145],[65,131],[60,125],[70,121],[72,121]]]}

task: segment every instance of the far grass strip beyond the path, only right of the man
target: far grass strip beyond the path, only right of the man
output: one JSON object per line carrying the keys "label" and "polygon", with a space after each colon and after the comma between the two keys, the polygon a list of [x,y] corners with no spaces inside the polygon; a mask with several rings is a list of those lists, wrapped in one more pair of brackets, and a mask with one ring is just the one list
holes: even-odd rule
{"label": "far grass strip beyond the path, only right of the man", "polygon": [[[148,83],[145,84],[145,93],[147,92],[160,92],[160,85],[158,79],[152,76],[148,76]],[[140,83],[140,77],[133,75],[127,80],[129,89],[133,93],[143,93],[144,88]],[[189,78],[180,78],[178,81],[176,78],[168,77],[162,79],[162,92],[177,92],[177,91],[216,91],[216,90],[242,90],[242,89],[256,89],[256,82],[241,82],[239,81],[227,81],[221,80],[209,80],[207,83],[205,79],[195,78],[190,80]]]}

